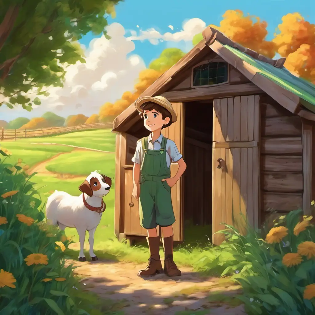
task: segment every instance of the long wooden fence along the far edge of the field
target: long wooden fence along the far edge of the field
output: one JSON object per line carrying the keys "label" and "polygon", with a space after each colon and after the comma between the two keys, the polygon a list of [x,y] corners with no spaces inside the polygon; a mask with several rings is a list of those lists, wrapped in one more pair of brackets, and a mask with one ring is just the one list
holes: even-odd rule
{"label": "long wooden fence along the far edge of the field", "polygon": [[51,127],[51,128],[41,128],[41,129],[0,129],[0,140],[7,139],[20,139],[20,138],[33,138],[41,137],[47,135],[59,135],[68,132],[73,132],[77,130],[87,130],[87,129],[105,129],[112,128],[113,123],[93,123],[90,125],[80,125],[75,127]]}

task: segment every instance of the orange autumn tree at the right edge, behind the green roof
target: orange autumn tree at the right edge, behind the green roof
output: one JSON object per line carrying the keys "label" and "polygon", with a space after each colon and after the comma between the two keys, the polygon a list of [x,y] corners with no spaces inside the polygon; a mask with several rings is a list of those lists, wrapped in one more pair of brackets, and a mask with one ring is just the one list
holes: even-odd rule
{"label": "orange autumn tree at the right edge, behind the green roof", "polygon": [[286,58],[284,66],[315,83],[315,24],[305,21],[299,13],[289,13],[282,17],[278,28],[280,33],[273,42]]}

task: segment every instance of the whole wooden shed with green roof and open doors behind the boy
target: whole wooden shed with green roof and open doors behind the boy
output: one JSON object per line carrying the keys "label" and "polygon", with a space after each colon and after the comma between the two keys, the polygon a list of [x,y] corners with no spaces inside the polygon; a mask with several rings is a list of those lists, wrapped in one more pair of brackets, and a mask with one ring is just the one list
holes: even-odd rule
{"label": "whole wooden shed with green roof and open doors behind the boy", "polygon": [[[257,227],[271,209],[310,213],[315,193],[315,87],[272,60],[207,27],[203,41],[141,96],[165,96],[178,120],[163,133],[187,164],[172,187],[174,240],[184,220],[212,232],[246,214]],[[131,158],[148,135],[134,104],[116,117],[115,233],[146,236],[132,197]],[[171,164],[175,174],[177,164]],[[221,233],[213,235],[220,244]]]}

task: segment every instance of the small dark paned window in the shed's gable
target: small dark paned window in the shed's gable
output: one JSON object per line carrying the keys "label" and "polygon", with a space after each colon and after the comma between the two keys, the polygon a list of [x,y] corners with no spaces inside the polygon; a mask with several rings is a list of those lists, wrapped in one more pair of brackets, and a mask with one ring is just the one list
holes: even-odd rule
{"label": "small dark paned window in the shed's gable", "polygon": [[205,86],[228,81],[226,62],[208,62],[193,69],[192,86]]}

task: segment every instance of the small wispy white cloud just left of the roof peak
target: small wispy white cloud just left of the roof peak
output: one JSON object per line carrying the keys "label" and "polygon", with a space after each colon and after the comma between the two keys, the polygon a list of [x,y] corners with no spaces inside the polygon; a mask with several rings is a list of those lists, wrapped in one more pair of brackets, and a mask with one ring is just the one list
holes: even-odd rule
{"label": "small wispy white cloud just left of the roof peak", "polygon": [[[175,33],[166,32],[164,34],[161,34],[156,29],[149,28],[146,31],[140,30],[139,34],[137,34],[136,31],[130,31],[131,36],[129,36],[128,39],[140,41],[148,40],[153,45],[157,45],[160,39],[169,42],[180,42],[182,40],[191,41],[192,38],[196,34],[202,32],[205,27],[206,23],[203,20],[193,18],[184,21],[183,29]],[[169,25],[169,28],[174,30],[174,27],[172,25]]]}

